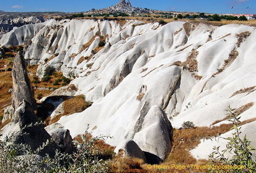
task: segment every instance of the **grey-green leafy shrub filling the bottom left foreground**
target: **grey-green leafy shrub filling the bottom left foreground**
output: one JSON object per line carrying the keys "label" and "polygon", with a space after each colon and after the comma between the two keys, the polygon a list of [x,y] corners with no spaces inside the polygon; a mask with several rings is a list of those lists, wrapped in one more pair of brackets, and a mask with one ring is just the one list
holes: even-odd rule
{"label": "grey-green leafy shrub filling the bottom left foreground", "polygon": [[[13,136],[13,135],[12,135]],[[0,141],[0,173],[2,172],[108,172],[112,152],[103,151],[97,141],[109,136],[91,137],[86,131],[73,154],[56,150],[54,158],[41,157],[40,151],[49,144],[43,143],[33,151],[29,145],[15,144],[12,138]]]}

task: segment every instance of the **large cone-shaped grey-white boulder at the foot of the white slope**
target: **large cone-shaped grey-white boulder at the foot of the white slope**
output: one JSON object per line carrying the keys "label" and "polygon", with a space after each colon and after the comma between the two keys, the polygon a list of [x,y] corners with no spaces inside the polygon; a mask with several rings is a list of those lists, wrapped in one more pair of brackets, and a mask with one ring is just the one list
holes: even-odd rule
{"label": "large cone-shaped grey-white boulder at the foot of the white slope", "polygon": [[[147,152],[164,160],[171,151],[172,126],[165,112],[157,105],[152,106],[142,123],[142,129],[133,140]],[[148,157],[146,156],[148,159]]]}

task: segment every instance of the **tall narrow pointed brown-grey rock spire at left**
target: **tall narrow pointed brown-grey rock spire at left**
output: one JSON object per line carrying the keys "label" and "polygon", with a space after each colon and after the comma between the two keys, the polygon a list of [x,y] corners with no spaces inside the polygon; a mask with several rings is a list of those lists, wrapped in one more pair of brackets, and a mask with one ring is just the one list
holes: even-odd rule
{"label": "tall narrow pointed brown-grey rock spire at left", "polygon": [[12,107],[17,109],[23,100],[30,103],[33,110],[37,110],[36,99],[34,99],[34,90],[27,74],[27,66],[23,54],[17,53],[12,68]]}

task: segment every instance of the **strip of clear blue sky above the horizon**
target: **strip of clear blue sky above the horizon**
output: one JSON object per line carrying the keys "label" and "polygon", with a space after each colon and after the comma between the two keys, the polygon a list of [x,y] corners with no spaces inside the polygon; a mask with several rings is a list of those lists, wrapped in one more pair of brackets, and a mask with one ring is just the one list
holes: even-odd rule
{"label": "strip of clear blue sky above the horizon", "polygon": [[[0,0],[3,11],[81,12],[115,5],[119,0]],[[217,14],[256,14],[255,0],[130,0],[132,6],[163,11],[209,12]],[[233,6],[233,9],[231,9]],[[249,8],[247,9],[247,7]]]}

